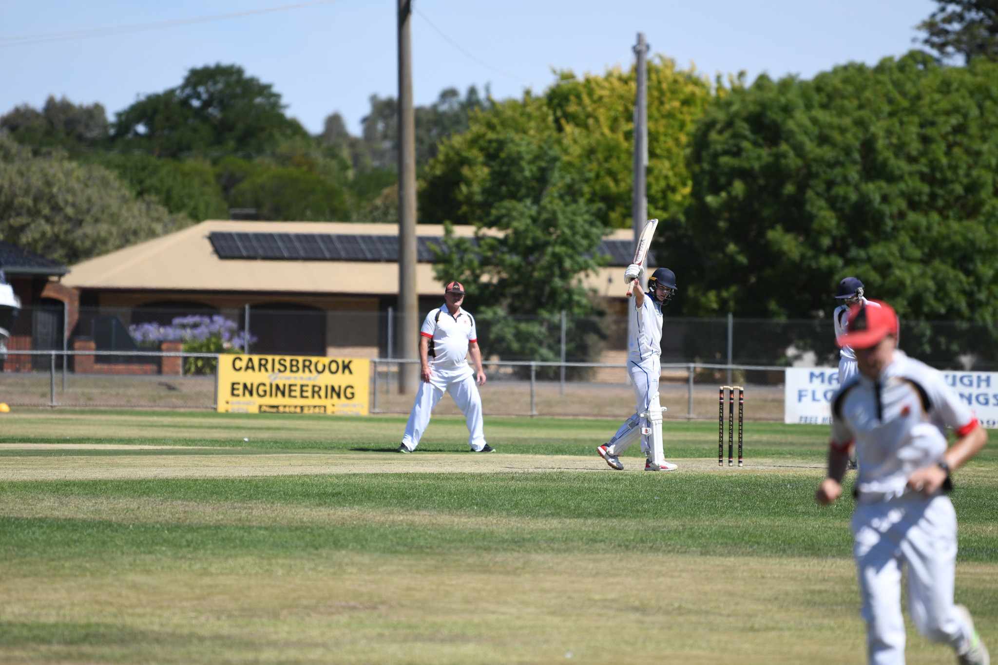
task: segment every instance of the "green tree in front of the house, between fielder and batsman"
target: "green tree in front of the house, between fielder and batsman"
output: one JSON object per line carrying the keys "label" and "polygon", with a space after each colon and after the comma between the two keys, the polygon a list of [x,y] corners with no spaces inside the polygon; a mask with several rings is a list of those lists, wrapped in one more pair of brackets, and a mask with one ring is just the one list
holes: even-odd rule
{"label": "green tree in front of the house, between fielder and batsman", "polygon": [[[461,220],[476,226],[475,242],[455,237],[448,220],[434,273],[464,283],[487,354],[556,359],[561,310],[597,313],[580,277],[600,264],[605,227],[565,155],[543,101],[528,96],[473,115],[471,129],[444,141],[428,166],[449,172],[467,161],[483,171],[474,189],[455,192]],[[573,320],[571,355],[591,357],[600,337],[594,325]]]}

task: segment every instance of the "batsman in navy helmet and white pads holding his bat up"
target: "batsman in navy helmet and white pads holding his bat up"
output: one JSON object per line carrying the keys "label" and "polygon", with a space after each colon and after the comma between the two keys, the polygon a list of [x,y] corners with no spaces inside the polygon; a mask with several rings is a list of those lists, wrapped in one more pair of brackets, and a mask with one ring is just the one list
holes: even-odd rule
{"label": "batsman in navy helmet and white pads holding his bat up", "polygon": [[[624,273],[630,284],[641,274],[636,263]],[[631,307],[631,338],[628,340],[628,371],[634,383],[636,413],[624,421],[609,442],[597,448],[611,469],[622,471],[618,456],[641,439],[645,453],[645,471],[672,471],[676,465],[666,462],[662,450],[662,412],[659,403],[659,378],[662,374],[662,308],[676,293],[676,275],[669,268],[659,268],[648,279],[648,293],[634,292]]]}

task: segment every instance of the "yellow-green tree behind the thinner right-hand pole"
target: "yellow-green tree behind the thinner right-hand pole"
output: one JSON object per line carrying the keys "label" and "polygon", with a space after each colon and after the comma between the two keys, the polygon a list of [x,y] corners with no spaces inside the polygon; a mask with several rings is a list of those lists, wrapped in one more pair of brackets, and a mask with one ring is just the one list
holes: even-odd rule
{"label": "yellow-green tree behind the thinner right-hand pole", "polygon": [[[658,57],[648,67],[649,97],[649,216],[666,217],[681,210],[690,195],[685,151],[697,120],[711,103],[709,83],[695,71],[679,71],[673,61]],[[631,226],[633,133],[636,78],[634,70],[611,70],[604,76],[576,80],[559,73],[559,82],[543,96],[527,94],[517,104],[540,105],[536,122],[561,136],[566,160],[562,169],[585,182],[582,195],[597,206],[607,226]],[[469,132],[489,127],[490,115],[502,115],[509,102],[495,103],[472,113]],[[471,223],[461,209],[465,190],[477,190],[489,165],[469,155],[448,155],[423,172],[420,193],[422,222]]]}

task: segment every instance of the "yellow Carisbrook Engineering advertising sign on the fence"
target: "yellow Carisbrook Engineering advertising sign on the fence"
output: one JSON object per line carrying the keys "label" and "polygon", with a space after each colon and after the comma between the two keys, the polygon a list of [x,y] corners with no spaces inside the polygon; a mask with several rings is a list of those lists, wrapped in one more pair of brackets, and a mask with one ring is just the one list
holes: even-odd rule
{"label": "yellow Carisbrook Engineering advertising sign on the fence", "polygon": [[366,416],[370,361],[322,356],[219,359],[219,412]]}

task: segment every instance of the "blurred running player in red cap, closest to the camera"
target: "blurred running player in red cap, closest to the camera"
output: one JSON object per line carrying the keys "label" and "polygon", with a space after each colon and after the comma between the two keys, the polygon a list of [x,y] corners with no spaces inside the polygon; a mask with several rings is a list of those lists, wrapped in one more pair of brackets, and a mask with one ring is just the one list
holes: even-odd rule
{"label": "blurred running player in red cap, closest to the camera", "polygon": [[[890,305],[850,308],[838,343],[855,350],[859,373],[832,397],[828,478],[815,499],[827,505],[841,495],[854,446],[853,555],[871,664],[904,663],[906,566],[908,610],[918,632],[951,646],[962,665],[988,665],[970,613],[953,604],[956,513],[946,496],[950,474],[984,447],[987,434],[941,373],[896,349],[897,334]],[[947,428],[957,437],[948,448]]]}

